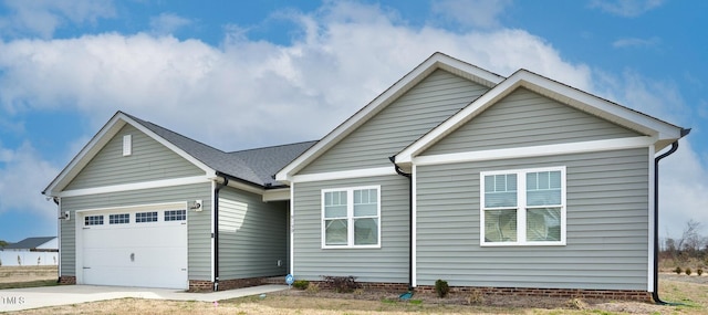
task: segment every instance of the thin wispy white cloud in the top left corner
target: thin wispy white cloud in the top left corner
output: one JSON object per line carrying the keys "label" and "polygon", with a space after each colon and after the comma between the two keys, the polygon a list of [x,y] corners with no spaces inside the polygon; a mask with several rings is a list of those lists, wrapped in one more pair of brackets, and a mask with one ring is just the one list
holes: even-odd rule
{"label": "thin wispy white cloud in the top left corner", "polygon": [[112,18],[112,1],[92,0],[6,0],[4,6],[13,14],[0,17],[0,32],[33,34],[51,38],[66,22],[95,23],[100,18]]}

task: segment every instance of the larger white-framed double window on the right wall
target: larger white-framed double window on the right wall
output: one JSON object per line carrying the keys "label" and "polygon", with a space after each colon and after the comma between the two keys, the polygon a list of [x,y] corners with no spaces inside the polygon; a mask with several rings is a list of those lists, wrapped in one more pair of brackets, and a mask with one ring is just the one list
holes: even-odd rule
{"label": "larger white-framed double window on the right wall", "polygon": [[565,167],[480,174],[482,245],[565,244]]}

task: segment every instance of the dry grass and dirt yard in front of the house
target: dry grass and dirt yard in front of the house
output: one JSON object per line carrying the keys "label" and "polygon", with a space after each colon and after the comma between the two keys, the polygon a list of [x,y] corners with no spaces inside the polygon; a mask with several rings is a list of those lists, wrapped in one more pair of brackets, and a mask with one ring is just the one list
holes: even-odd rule
{"label": "dry grass and dirt yard in front of the house", "polygon": [[12,314],[708,314],[708,276],[662,274],[660,297],[681,305],[617,301],[469,296],[438,298],[416,294],[403,302],[397,293],[283,291],[217,304],[124,298],[30,309]]}

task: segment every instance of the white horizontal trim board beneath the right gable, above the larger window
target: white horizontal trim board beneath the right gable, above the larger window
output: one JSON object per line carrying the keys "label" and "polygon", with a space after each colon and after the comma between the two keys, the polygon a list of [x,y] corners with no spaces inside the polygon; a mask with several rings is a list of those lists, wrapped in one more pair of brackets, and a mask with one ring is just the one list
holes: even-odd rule
{"label": "white horizontal trim board beneath the right gable, above the larger window", "polygon": [[470,162],[470,161],[482,161],[482,160],[494,160],[494,159],[513,159],[513,158],[528,158],[528,157],[549,156],[549,155],[566,155],[566,154],[621,150],[621,149],[631,149],[631,148],[644,148],[644,147],[652,146],[655,143],[655,140],[656,139],[653,137],[645,136],[645,137],[582,141],[582,143],[559,144],[559,145],[493,149],[493,150],[483,150],[483,151],[466,151],[466,153],[445,154],[445,155],[435,155],[435,156],[419,156],[413,159],[413,165],[417,165],[417,166],[441,165],[441,164],[454,164],[454,162]]}

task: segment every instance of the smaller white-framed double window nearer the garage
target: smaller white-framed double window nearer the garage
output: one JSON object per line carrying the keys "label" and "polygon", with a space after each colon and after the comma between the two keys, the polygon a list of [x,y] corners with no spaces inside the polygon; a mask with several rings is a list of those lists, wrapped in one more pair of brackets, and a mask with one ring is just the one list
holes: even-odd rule
{"label": "smaller white-framed double window nearer the garage", "polygon": [[322,246],[381,246],[381,187],[322,190]]}

